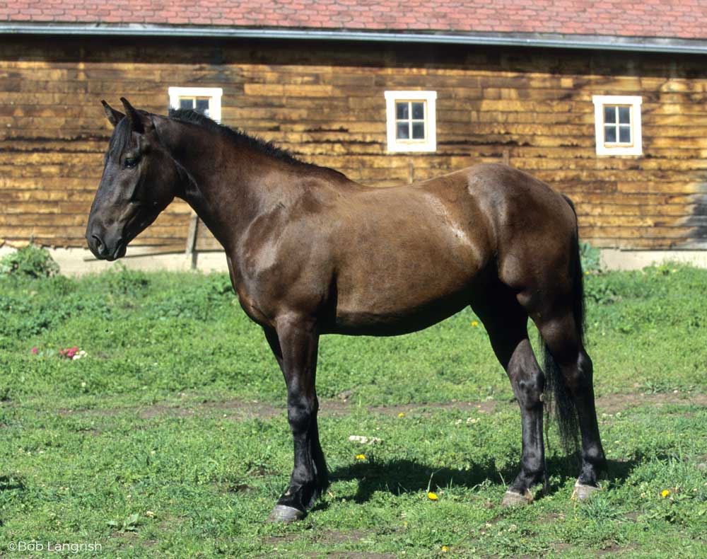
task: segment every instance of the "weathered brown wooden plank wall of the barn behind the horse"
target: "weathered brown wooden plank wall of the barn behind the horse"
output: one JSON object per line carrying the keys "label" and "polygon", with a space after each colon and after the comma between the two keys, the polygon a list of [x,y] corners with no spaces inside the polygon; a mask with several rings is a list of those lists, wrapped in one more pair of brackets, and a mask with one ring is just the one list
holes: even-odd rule
{"label": "weathered brown wooden plank wall of the barn behind the horse", "polygon": [[[100,99],[165,113],[169,86],[221,87],[224,124],[366,184],[506,159],[571,196],[597,246],[707,247],[700,57],[140,38],[0,42],[0,239],[84,246],[111,132]],[[395,89],[437,91],[436,153],[387,154]],[[593,95],[643,96],[643,156],[595,154]],[[175,202],[134,243],[183,250],[189,214]]]}

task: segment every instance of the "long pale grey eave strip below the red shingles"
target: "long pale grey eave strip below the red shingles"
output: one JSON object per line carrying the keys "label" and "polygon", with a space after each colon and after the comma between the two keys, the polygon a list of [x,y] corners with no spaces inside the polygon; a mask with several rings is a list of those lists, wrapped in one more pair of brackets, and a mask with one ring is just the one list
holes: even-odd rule
{"label": "long pale grey eave strip below the red shingles", "polygon": [[416,42],[454,45],[707,54],[707,40],[615,37],[607,35],[561,35],[549,33],[445,33],[415,31],[400,33],[345,29],[180,27],[175,25],[104,25],[93,23],[71,25],[0,23],[0,35],[11,34]]}

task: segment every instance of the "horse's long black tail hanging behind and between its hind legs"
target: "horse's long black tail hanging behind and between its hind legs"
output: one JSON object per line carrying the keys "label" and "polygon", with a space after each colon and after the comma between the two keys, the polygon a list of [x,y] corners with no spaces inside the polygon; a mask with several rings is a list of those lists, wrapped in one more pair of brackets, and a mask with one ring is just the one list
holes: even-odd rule
{"label": "horse's long black tail hanging behind and between its hind legs", "polygon": [[[580,260],[579,235],[577,231],[577,211],[572,200],[563,195],[575,214],[575,231],[571,241],[570,276],[572,282],[572,313],[578,339],[584,344],[585,306],[584,306],[584,273]],[[545,373],[544,400],[547,419],[554,408],[555,420],[559,426],[563,449],[572,454],[578,448],[579,421],[577,409],[568,393],[568,388],[562,376],[562,371],[549,351],[547,344],[540,338],[543,353],[543,369]],[[546,437],[547,439],[547,437]]]}

